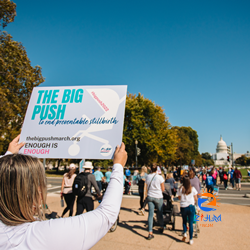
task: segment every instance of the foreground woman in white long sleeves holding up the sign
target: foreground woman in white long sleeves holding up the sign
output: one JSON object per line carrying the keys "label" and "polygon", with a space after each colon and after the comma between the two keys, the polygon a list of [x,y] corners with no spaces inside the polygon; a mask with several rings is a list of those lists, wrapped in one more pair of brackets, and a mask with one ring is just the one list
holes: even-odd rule
{"label": "foreground woman in white long sleeves holding up the sign", "polygon": [[[117,220],[123,193],[125,145],[117,147],[110,183],[94,211],[69,218],[43,221],[46,177],[37,158],[11,154],[17,142],[0,158],[0,249],[74,249],[93,247]],[[19,148],[19,149],[18,149]],[[17,150],[18,149],[18,150]],[[74,239],[69,240],[69,239]]]}

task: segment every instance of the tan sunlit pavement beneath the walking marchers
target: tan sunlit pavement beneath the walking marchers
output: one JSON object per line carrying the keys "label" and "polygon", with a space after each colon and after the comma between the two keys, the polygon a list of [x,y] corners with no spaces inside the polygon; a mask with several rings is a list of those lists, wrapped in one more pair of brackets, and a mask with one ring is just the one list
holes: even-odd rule
{"label": "tan sunlit pavement beneath the walking marchers", "polygon": [[[60,196],[48,194],[47,204],[51,211],[61,215]],[[98,203],[95,202],[95,207]],[[92,249],[250,249],[250,209],[248,206],[220,204],[216,216],[221,214],[221,222],[213,227],[200,227],[198,238],[192,246],[181,242],[182,219],[176,217],[175,231],[165,230],[163,234],[154,230],[155,238],[148,241],[147,213],[139,216],[139,200],[123,198],[119,215],[119,226],[113,233],[107,233]],[[169,226],[170,227],[170,226]],[[188,241],[188,239],[187,239]]]}

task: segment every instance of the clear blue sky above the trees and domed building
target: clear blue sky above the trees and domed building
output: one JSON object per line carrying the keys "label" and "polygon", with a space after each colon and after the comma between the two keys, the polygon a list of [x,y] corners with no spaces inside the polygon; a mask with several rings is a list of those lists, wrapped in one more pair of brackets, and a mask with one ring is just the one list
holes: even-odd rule
{"label": "clear blue sky above the trees and domed building", "polygon": [[250,151],[250,1],[14,2],[5,30],[43,86],[128,85],[195,129],[201,153],[221,134]]}

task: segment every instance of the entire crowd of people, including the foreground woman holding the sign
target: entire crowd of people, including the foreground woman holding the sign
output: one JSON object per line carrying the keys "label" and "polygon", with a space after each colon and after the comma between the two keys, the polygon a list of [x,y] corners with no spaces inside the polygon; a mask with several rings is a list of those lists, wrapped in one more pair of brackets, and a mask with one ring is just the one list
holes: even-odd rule
{"label": "entire crowd of people, including the foreground woman holding the sign", "polygon": [[[125,145],[122,144],[117,147],[114,154],[112,172],[109,168],[105,175],[100,168],[93,172],[93,165],[88,161],[83,166],[84,172],[79,174],[75,173],[76,165],[70,164],[68,173],[63,176],[61,186],[61,198],[66,203],[61,217],[69,211],[70,218],[67,220],[61,218],[49,223],[44,220],[43,211],[46,206],[44,168],[37,158],[18,154],[18,150],[24,145],[18,140],[19,137],[15,138],[10,143],[6,155],[0,158],[0,234],[2,235],[0,248],[4,249],[14,249],[13,246],[22,247],[22,249],[54,249],[54,242],[57,244],[60,242],[60,246],[57,245],[56,248],[89,249],[107,233],[117,219],[122,194],[129,193],[131,182],[138,185],[139,214],[145,215],[145,208],[148,206],[147,239],[154,238],[155,209],[160,232],[165,229],[163,192],[166,191],[165,184],[167,184],[171,200],[174,201],[176,195],[180,200],[182,241],[186,241],[187,230],[189,230],[189,244],[192,245],[193,222],[195,213],[199,210],[197,200],[202,186],[206,187],[207,192],[213,193],[218,183],[223,183],[227,190],[228,181],[230,181],[233,188],[235,182],[236,189],[241,189],[242,176],[237,168],[226,171],[224,168],[190,167],[184,171],[180,168],[168,171],[153,163],[148,167],[143,166],[140,172],[136,170],[131,175],[129,168],[125,171],[123,169],[127,153]],[[100,202],[95,210],[92,199],[93,189],[96,199]],[[75,199],[76,216],[73,216]],[[84,210],[87,213],[83,213]],[[94,233],[97,231],[98,235]],[[79,240],[68,245],[69,242],[66,240],[68,234],[74,235],[74,238]],[[76,235],[79,237],[75,237]]]}

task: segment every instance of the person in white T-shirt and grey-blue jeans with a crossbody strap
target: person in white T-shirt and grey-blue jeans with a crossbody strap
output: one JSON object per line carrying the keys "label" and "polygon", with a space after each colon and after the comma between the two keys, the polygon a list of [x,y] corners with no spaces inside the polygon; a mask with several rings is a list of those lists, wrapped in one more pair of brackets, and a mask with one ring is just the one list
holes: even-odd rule
{"label": "person in white T-shirt and grey-blue jeans with a crossbody strap", "polygon": [[151,174],[146,177],[146,185],[148,190],[147,202],[148,202],[148,240],[154,238],[153,235],[153,216],[154,209],[157,208],[157,216],[161,227],[161,232],[164,230],[163,224],[163,195],[165,190],[164,179],[161,175],[157,174],[157,165],[154,163],[151,166]]}

